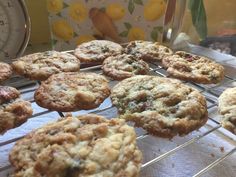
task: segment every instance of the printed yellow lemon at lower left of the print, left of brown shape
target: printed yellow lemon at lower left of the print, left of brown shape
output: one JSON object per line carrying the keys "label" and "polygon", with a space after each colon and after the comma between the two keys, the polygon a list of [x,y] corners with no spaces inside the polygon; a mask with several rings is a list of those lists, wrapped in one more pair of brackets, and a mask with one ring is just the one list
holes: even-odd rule
{"label": "printed yellow lemon at lower left of the print, left of brown shape", "polygon": [[52,23],[52,32],[58,38],[68,41],[73,38],[74,30],[66,20],[57,20]]}

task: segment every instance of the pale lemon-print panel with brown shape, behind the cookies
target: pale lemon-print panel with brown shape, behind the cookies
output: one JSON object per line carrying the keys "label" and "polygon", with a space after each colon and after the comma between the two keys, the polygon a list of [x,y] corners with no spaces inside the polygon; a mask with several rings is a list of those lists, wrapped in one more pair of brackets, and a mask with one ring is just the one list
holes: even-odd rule
{"label": "pale lemon-print panel with brown shape, behind the cookies", "polygon": [[159,41],[166,7],[167,0],[47,0],[53,48],[94,39]]}

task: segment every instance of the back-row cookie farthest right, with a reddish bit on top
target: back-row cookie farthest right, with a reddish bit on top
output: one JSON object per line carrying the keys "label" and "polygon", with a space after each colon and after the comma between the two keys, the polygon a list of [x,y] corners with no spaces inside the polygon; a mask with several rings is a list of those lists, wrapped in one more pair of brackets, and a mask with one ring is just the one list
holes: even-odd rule
{"label": "back-row cookie farthest right, with a reddish bit on top", "polygon": [[217,84],[224,79],[224,67],[203,56],[183,51],[163,59],[170,76],[201,84]]}

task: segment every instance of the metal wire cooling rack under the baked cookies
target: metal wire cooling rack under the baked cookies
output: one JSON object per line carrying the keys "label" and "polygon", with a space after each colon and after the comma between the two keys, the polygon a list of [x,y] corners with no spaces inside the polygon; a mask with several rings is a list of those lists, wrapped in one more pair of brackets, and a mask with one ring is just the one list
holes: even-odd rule
{"label": "metal wire cooling rack under the baked cookies", "polygon": [[[149,66],[150,75],[167,77],[166,71],[158,63],[149,63]],[[101,65],[83,68],[81,72],[102,74]],[[110,80],[111,87],[116,83],[117,81]],[[136,128],[137,143],[144,158],[140,176],[197,177],[203,174],[204,176],[235,176],[236,166],[233,162],[236,160],[236,136],[221,127],[217,114],[217,98],[225,88],[236,86],[235,73],[225,75],[223,82],[219,85],[201,85],[190,82],[185,82],[185,84],[198,89],[206,97],[209,120],[199,131],[194,131],[185,137],[175,137],[172,140],[153,137],[141,128]],[[15,141],[23,138],[31,130],[66,115],[63,112],[46,110],[36,105],[33,94],[38,85],[18,87],[22,97],[32,103],[34,114],[22,126],[0,135],[0,176],[7,176],[12,172],[8,154]],[[108,118],[117,117],[117,110],[112,106],[109,98],[99,108],[72,114],[86,113],[100,114]]]}

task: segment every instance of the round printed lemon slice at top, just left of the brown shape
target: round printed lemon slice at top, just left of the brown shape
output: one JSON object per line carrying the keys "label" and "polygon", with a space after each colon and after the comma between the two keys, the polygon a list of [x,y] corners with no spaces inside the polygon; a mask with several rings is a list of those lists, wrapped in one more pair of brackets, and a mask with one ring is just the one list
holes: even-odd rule
{"label": "round printed lemon slice at top, just left of the brown shape", "polygon": [[87,18],[88,10],[86,6],[82,3],[72,3],[69,6],[69,16],[73,20],[81,23]]}

